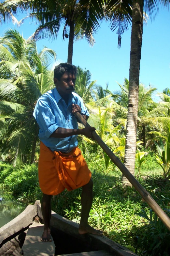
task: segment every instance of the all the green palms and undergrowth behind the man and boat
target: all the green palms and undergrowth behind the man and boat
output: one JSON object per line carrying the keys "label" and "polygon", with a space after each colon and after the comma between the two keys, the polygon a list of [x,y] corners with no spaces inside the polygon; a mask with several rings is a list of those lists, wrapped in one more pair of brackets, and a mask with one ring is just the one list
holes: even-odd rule
{"label": "all the green palms and undergrowth behind the man and boat", "polygon": [[[37,99],[54,88],[57,62],[55,51],[47,47],[38,51],[35,41],[57,37],[63,25],[63,39],[69,38],[67,61],[72,63],[74,40],[85,36],[93,45],[104,19],[112,31],[117,29],[119,47],[121,34],[132,24],[129,79],[119,84],[120,90],[109,91],[108,84],[106,89],[98,85],[89,70],[78,66],[75,90],[90,112],[90,125],[170,214],[170,89],[159,92],[156,103],[156,88],[139,82],[144,11],[152,18],[158,4],[167,7],[169,1],[1,1],[0,23],[18,23],[15,15],[26,11],[29,15],[20,24],[31,18],[39,26],[28,40],[15,29],[0,38],[0,219],[2,215],[14,217],[23,203],[41,198],[39,128],[33,111]],[[130,184],[93,140],[78,136],[78,141],[94,180],[90,224],[139,255],[169,255],[170,232],[161,220],[134,188],[122,187],[122,182]],[[80,193],[78,189],[56,196],[53,210],[79,222]],[[20,206],[6,202],[9,199]]]}

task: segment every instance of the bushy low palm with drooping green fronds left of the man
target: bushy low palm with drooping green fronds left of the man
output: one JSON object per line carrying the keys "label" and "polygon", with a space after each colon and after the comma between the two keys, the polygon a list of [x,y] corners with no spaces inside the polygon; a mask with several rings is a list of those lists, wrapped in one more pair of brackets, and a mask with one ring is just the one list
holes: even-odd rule
{"label": "bushy low palm with drooping green fronds left of the man", "polygon": [[10,158],[17,167],[34,161],[39,129],[33,111],[37,99],[53,87],[51,57],[56,57],[53,50],[38,52],[35,41],[25,40],[16,30],[7,30],[0,39],[1,158]]}

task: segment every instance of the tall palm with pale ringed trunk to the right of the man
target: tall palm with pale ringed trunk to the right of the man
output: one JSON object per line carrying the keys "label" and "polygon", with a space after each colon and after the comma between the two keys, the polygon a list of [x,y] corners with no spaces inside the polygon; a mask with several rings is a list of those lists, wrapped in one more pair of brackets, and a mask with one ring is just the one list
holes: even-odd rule
{"label": "tall palm with pale ringed trunk to the right of the man", "polygon": [[[131,51],[130,51],[130,69],[129,69],[129,95],[128,95],[128,115],[127,115],[127,130],[126,130],[126,146],[125,146],[125,158],[124,165],[129,169],[131,173],[134,173],[135,169],[135,151],[136,151],[136,128],[137,128],[137,111],[138,111],[138,90],[139,90],[139,71],[140,71],[140,58],[142,47],[142,34],[143,34],[143,20],[144,11],[152,18],[153,14],[159,10],[158,4],[162,6],[168,6],[169,0],[132,0],[129,2],[129,6],[124,1],[119,1],[115,4],[114,0],[108,0],[106,10],[114,10],[118,7],[124,10],[124,15],[117,15],[118,21],[124,21],[118,27],[119,42],[121,42],[121,33],[123,32],[124,24],[125,28],[128,22],[132,18],[132,32],[131,32]],[[132,15],[130,8],[132,7]],[[114,11],[113,11],[114,13]],[[110,16],[109,16],[110,18]],[[115,28],[114,19],[111,22],[111,29]],[[119,33],[119,30],[121,32]],[[120,45],[120,44],[119,44]],[[128,180],[123,177],[122,182],[126,185],[131,185]]]}

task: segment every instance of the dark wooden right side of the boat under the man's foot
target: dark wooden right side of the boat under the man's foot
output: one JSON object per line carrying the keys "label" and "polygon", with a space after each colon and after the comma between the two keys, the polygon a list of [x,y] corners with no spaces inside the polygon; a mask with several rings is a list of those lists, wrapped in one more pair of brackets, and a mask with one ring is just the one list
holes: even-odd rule
{"label": "dark wooden right side of the boat under the man's foot", "polygon": [[[37,214],[39,217],[43,219],[41,213],[41,204],[37,204]],[[51,214],[50,225],[58,230],[61,230],[67,234],[70,234],[88,244],[91,244],[93,248],[99,250],[106,250],[107,252],[113,253],[114,255],[119,256],[138,256],[134,252],[130,251],[129,249],[115,243],[111,239],[107,238],[106,236],[98,236],[93,234],[84,234],[80,235],[78,233],[79,225],[69,219],[66,219],[55,212]]]}

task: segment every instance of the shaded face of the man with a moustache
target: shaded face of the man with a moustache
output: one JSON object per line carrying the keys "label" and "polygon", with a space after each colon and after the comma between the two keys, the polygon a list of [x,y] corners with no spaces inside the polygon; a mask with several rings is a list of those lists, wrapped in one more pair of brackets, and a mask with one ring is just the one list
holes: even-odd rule
{"label": "shaded face of the man with a moustache", "polygon": [[69,95],[74,90],[75,86],[75,74],[65,72],[60,81],[54,78],[54,84],[61,96]]}

